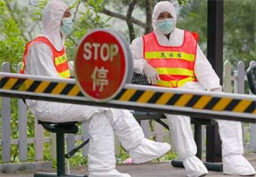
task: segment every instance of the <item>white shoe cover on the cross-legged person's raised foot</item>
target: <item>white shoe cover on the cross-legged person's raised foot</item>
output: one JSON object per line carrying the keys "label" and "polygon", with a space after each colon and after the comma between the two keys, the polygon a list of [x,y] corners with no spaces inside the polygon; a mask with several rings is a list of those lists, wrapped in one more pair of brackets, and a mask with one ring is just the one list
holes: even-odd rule
{"label": "white shoe cover on the cross-legged person's raised foot", "polygon": [[155,142],[144,138],[139,146],[131,149],[129,154],[134,163],[144,163],[159,158],[171,149],[167,142]]}

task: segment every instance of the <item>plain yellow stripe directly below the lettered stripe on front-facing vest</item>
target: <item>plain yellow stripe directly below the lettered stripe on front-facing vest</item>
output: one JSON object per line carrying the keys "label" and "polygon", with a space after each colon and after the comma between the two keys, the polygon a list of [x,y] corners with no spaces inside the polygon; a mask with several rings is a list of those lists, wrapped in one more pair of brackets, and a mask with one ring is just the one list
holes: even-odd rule
{"label": "plain yellow stripe directly below the lettered stripe on front-facing vest", "polygon": [[185,68],[156,68],[156,72],[159,75],[194,76],[193,70],[188,70]]}

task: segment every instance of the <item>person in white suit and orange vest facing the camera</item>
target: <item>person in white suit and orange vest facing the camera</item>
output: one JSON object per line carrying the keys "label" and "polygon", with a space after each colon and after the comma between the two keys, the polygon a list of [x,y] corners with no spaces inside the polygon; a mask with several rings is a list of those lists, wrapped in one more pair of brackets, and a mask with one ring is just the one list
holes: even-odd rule
{"label": "person in white suit and orange vest facing the camera", "polygon": [[[176,10],[168,1],[158,2],[153,10],[153,32],[134,39],[130,45],[134,71],[147,76],[156,86],[197,91],[221,92],[220,79],[197,44],[197,34],[176,28]],[[187,176],[204,176],[208,171],[195,154],[190,118],[166,114]],[[222,141],[223,173],[254,176],[255,170],[243,157],[242,128],[239,121],[216,120]]]}

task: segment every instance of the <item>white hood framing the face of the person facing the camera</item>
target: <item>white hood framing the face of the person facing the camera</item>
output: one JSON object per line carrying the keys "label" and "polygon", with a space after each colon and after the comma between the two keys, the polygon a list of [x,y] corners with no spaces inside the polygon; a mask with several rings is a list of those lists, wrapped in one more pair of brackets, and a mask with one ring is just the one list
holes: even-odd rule
{"label": "white hood framing the face of the person facing the camera", "polygon": [[175,7],[169,1],[161,1],[161,2],[158,2],[156,4],[156,6],[154,7],[153,15],[152,15],[153,29],[154,29],[154,31],[157,34],[161,34],[161,32],[156,27],[156,22],[157,22],[158,16],[162,12],[169,12],[173,16],[173,19],[174,19],[174,29],[176,28],[177,15],[176,15]]}

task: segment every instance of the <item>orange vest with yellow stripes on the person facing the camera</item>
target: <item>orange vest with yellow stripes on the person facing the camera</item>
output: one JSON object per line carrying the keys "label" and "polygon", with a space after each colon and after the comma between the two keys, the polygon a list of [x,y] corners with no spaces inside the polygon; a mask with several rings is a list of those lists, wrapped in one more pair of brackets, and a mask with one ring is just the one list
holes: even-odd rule
{"label": "orange vest with yellow stripes on the person facing the camera", "polygon": [[197,41],[197,33],[189,31],[184,31],[181,46],[161,46],[153,32],[143,36],[144,59],[161,78],[156,86],[177,88],[187,82],[197,81],[194,73]]}

